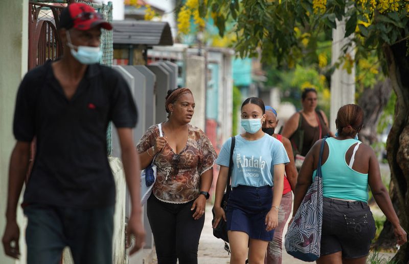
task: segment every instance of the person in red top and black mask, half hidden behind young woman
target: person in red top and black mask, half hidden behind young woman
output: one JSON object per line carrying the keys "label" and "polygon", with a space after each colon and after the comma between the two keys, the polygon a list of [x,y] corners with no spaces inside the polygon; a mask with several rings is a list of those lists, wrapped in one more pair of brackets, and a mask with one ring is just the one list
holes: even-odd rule
{"label": "person in red top and black mask, half hidden behind young woman", "polygon": [[282,237],[284,226],[291,213],[292,196],[291,190],[296,189],[298,172],[296,169],[296,164],[294,163],[294,155],[292,154],[291,143],[287,138],[281,135],[274,134],[274,130],[278,125],[277,111],[269,106],[265,107],[265,122],[263,123],[262,130],[264,133],[275,137],[281,143],[283,143],[285,150],[287,151],[290,163],[285,166],[285,176],[284,176],[284,188],[283,196],[281,198],[280,210],[278,211],[278,226],[275,229],[274,237],[272,241],[268,242],[267,254],[265,263],[281,263],[282,261]]}

